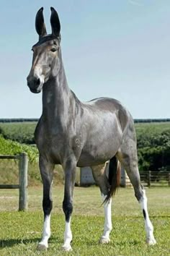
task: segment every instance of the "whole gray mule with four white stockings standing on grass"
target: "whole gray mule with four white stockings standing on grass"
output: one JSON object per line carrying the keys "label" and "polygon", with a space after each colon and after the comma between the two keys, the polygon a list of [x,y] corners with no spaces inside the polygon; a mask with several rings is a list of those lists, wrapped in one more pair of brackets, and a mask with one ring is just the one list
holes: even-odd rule
{"label": "whole gray mule with four white stockings standing on grass", "polygon": [[[44,226],[38,249],[48,248],[51,186],[53,168],[61,164],[65,175],[63,212],[66,216],[63,249],[71,250],[71,213],[76,166],[91,166],[104,200],[104,231],[99,240],[109,242],[112,230],[111,201],[119,183],[118,161],[122,163],[140,202],[146,226],[146,242],[156,244],[148,216],[147,198],[140,184],[133,118],[113,98],[97,98],[82,103],[68,88],[61,57],[61,25],[58,13],[51,7],[52,33],[47,35],[41,8],[36,15],[38,42],[32,46],[33,60],[27,85],[32,93],[42,90],[42,116],[35,129],[35,142],[40,153],[43,182],[42,208]],[[109,177],[100,165],[109,160]]]}

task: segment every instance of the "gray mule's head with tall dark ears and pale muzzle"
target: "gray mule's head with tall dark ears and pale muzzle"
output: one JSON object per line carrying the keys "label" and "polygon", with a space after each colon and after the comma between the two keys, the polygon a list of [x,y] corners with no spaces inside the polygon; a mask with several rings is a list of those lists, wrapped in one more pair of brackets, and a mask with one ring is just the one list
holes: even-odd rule
{"label": "gray mule's head with tall dark ears and pale muzzle", "polygon": [[35,17],[35,29],[39,40],[32,46],[33,59],[27,85],[32,93],[40,93],[45,82],[55,77],[60,67],[61,24],[58,13],[51,9],[50,24],[52,33],[47,34],[43,17],[43,7]]}

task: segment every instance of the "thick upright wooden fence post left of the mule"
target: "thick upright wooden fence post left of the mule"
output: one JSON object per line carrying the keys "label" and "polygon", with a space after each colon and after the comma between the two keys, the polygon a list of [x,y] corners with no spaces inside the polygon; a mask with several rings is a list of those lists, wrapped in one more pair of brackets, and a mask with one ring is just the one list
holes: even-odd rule
{"label": "thick upright wooden fence post left of the mule", "polygon": [[27,166],[26,153],[19,155],[19,210],[27,210]]}

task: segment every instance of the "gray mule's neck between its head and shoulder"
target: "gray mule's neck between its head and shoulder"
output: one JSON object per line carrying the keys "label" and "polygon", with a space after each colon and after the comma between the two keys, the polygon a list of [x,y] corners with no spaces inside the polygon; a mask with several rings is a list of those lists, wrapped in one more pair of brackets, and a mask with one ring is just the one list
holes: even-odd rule
{"label": "gray mule's neck between its head and shoulder", "polygon": [[73,107],[73,94],[68,88],[66,74],[61,59],[60,69],[56,77],[51,77],[42,89],[42,116],[52,124],[58,121],[66,126],[69,117],[68,112]]}

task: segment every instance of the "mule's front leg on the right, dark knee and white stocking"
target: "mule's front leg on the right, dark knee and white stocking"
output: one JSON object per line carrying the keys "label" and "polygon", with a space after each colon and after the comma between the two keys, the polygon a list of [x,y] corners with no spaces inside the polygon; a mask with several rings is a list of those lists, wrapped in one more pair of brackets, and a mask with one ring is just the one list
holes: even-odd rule
{"label": "mule's front leg on the right, dark knee and white stocking", "polygon": [[63,169],[65,174],[63,212],[65,213],[66,218],[63,249],[68,252],[72,249],[71,213],[73,212],[73,187],[76,180],[76,161],[66,161],[63,165]]}

